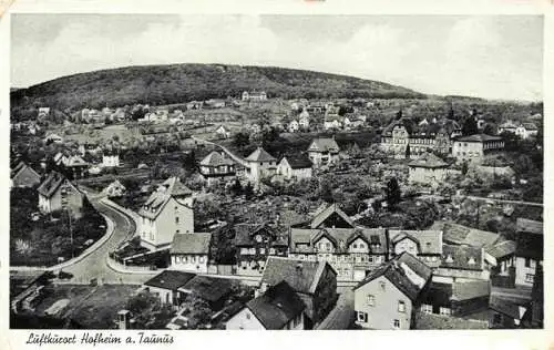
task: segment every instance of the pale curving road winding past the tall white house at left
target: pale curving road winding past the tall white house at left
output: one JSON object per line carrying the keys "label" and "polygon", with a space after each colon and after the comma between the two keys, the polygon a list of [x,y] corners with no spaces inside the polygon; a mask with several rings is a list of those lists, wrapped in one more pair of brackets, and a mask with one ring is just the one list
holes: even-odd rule
{"label": "pale curving road winding past the tall white house at left", "polygon": [[94,207],[114,224],[112,236],[96,250],[84,257],[82,260],[63,268],[63,271],[73,275],[73,278],[68,280],[72,284],[90,282],[91,279],[98,278],[104,284],[130,284],[140,285],[152,278],[150,274],[122,274],[111,269],[107,266],[106,259],[110,251],[119,247],[125,239],[134,235],[135,223],[126,214],[100,202],[91,198]]}

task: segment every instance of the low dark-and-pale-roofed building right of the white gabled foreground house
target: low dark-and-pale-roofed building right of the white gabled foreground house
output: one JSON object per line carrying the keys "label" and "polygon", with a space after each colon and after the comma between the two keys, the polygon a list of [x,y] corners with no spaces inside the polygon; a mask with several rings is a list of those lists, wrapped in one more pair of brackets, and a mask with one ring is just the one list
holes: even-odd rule
{"label": "low dark-and-pale-roofed building right of the white gabled foreground house", "polygon": [[421,299],[420,312],[468,317],[488,311],[491,284],[474,280],[453,284],[431,282]]}

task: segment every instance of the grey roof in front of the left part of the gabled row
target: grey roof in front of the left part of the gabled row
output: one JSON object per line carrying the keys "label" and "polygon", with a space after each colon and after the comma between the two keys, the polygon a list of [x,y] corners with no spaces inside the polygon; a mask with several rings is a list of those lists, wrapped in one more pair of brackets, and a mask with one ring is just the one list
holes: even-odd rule
{"label": "grey roof in front of the left part of the gabled row", "polygon": [[284,280],[295,291],[312,295],[327,266],[332,269],[326,261],[269,257],[260,282],[275,286]]}

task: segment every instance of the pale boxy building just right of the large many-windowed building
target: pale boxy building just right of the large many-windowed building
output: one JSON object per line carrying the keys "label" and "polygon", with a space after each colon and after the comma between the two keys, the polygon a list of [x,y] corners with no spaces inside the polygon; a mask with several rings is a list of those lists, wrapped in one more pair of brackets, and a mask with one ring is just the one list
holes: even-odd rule
{"label": "pale boxy building just right of the large many-windowed building", "polygon": [[452,155],[459,163],[481,164],[484,156],[504,148],[504,141],[500,136],[475,134],[458,137],[452,146]]}

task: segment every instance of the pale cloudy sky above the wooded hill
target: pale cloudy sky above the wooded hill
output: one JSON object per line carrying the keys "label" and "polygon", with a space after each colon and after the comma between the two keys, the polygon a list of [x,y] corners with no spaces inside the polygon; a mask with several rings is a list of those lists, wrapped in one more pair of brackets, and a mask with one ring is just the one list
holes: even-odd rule
{"label": "pale cloudy sky above the wooded hill", "polygon": [[340,73],[423,93],[537,101],[540,16],[13,14],[11,86],[166,63]]}

